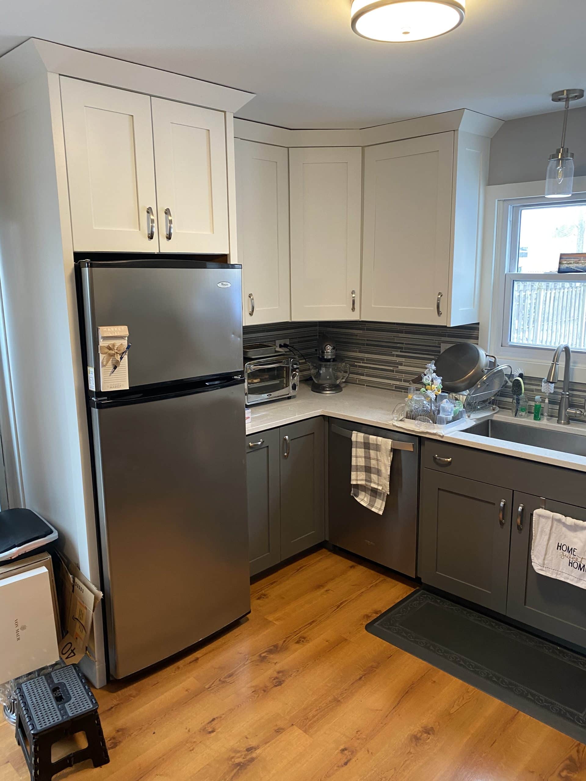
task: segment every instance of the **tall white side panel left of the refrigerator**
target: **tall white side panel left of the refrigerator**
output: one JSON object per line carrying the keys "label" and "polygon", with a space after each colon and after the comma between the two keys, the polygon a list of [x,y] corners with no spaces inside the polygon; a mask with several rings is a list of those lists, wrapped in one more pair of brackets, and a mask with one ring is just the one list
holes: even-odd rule
{"label": "tall white side panel left of the refrigerator", "polygon": [[23,506],[59,530],[66,555],[95,580],[47,76],[2,98],[0,149],[0,285]]}

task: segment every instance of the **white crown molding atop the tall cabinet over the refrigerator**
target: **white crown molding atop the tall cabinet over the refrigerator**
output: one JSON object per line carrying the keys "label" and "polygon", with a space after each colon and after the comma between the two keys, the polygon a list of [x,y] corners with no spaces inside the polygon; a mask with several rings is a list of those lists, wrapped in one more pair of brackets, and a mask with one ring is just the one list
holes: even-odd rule
{"label": "white crown molding atop the tall cabinet over the refrigerator", "polygon": [[234,113],[255,94],[135,62],[29,38],[0,58],[0,94],[42,73],[58,73],[110,87]]}

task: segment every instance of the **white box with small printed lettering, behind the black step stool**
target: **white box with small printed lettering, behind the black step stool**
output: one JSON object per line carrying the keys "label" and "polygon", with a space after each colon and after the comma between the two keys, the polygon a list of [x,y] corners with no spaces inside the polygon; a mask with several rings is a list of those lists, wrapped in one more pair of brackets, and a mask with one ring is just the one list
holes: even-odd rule
{"label": "white box with small printed lettering, behind the black step stool", "polygon": [[45,566],[0,580],[0,681],[59,658],[51,577]]}

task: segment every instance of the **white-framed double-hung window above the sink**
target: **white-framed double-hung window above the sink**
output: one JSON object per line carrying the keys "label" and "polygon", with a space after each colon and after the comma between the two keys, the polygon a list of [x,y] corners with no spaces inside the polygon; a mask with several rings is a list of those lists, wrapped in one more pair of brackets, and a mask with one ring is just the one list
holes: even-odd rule
{"label": "white-framed double-hung window above the sink", "polygon": [[[586,351],[586,199],[506,201],[502,347]],[[560,255],[584,254],[560,266]]]}

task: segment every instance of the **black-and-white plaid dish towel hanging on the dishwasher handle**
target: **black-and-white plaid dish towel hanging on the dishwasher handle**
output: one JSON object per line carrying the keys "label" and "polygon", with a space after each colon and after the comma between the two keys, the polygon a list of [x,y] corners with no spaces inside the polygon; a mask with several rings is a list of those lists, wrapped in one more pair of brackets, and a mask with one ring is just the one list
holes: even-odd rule
{"label": "black-and-white plaid dish towel hanging on the dishwasher handle", "polygon": [[352,496],[361,505],[382,515],[388,496],[393,443],[352,431]]}

